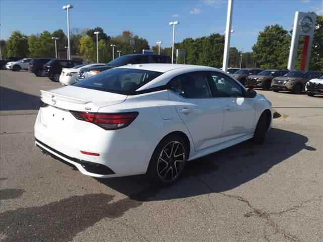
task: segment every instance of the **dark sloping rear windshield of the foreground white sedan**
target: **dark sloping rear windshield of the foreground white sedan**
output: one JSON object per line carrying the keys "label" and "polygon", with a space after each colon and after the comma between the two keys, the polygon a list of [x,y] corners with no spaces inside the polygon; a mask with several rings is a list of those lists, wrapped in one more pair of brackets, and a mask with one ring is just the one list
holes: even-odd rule
{"label": "dark sloping rear windshield of the foreground white sedan", "polygon": [[85,78],[73,84],[73,86],[131,95],[139,87],[161,74],[163,73],[129,68],[113,68]]}

